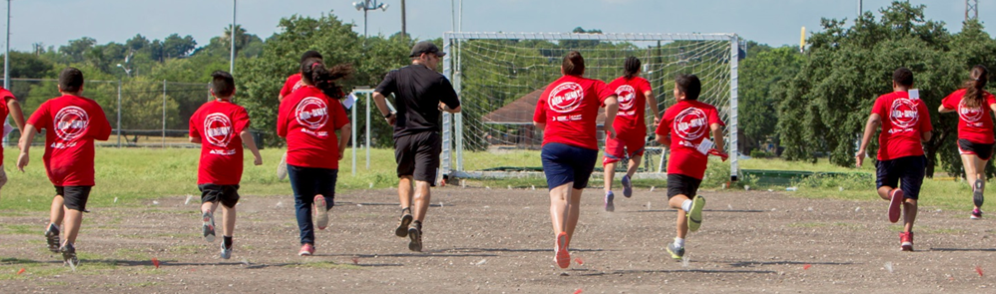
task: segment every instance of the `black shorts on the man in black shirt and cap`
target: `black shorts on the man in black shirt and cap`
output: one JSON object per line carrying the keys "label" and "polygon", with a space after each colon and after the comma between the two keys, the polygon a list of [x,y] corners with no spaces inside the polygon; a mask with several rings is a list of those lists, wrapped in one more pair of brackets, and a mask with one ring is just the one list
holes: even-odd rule
{"label": "black shorts on the man in black shirt and cap", "polygon": [[416,181],[436,186],[439,153],[443,140],[439,133],[428,131],[394,138],[394,160],[398,163],[398,177],[412,176]]}

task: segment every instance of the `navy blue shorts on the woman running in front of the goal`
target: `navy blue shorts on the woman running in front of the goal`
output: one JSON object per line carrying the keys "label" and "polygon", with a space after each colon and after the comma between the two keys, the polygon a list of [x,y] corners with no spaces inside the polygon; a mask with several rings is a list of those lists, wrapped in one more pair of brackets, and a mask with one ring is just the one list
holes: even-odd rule
{"label": "navy blue shorts on the woman running in front of the goal", "polygon": [[543,145],[541,154],[543,173],[550,189],[570,182],[574,182],[574,189],[584,189],[598,161],[598,150],[561,143]]}

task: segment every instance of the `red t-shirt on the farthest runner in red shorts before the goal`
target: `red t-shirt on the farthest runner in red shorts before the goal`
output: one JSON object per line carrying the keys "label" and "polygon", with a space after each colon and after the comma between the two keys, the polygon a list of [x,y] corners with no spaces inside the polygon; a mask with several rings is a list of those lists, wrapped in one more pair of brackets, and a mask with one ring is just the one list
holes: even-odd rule
{"label": "red t-shirt on the farthest runner in red shorts before the goal", "polygon": [[609,83],[609,89],[616,93],[619,99],[619,114],[612,125],[619,136],[642,138],[647,136],[645,113],[650,82],[641,77],[626,79],[620,77]]}

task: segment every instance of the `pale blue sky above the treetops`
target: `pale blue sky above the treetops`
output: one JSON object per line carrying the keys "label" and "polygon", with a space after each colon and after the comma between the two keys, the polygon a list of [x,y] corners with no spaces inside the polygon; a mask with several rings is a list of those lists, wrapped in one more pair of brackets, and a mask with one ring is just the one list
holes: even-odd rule
{"label": "pale blue sky above the treetops", "polygon": [[[358,0],[236,0],[236,21],[262,38],[277,32],[281,18],[292,15],[336,15],[363,33]],[[232,22],[231,0],[12,0],[10,45],[30,51],[32,44],[65,45],[91,37],[99,44],[123,43],[142,34],[163,39],[173,33],[191,35],[198,46],[223,34]],[[370,35],[401,31],[401,1],[381,0],[386,11],[368,13]],[[409,0],[407,31],[419,39],[441,37],[453,30],[452,3],[460,0]],[[819,30],[821,18],[853,20],[858,0],[464,0],[465,32],[569,32],[575,27],[614,33],[736,33],[772,46],[798,45],[800,28]],[[890,0],[863,0],[877,12]],[[927,6],[928,19],[961,30],[964,0],[911,0]],[[979,19],[996,21],[996,1],[982,0]],[[5,9],[0,8],[0,11]],[[877,14],[876,14],[877,15]],[[0,24],[2,25],[2,24]],[[6,28],[6,25],[0,27]],[[993,29],[987,29],[993,34]],[[0,40],[2,44],[2,40]]]}

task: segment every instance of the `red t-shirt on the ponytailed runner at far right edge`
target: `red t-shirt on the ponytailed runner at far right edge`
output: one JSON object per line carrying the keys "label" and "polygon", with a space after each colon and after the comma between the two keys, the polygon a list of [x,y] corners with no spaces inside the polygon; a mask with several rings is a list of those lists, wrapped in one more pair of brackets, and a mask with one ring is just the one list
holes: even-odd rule
{"label": "red t-shirt on the ponytailed runner at far right edge", "polygon": [[990,105],[996,104],[996,97],[989,92],[982,92],[982,97],[985,99],[983,106],[968,108],[965,107],[964,100],[961,99],[963,96],[965,96],[965,89],[960,89],[941,100],[944,108],[958,111],[958,139],[979,144],[996,142],[996,139],[993,138],[993,120],[989,114]]}

